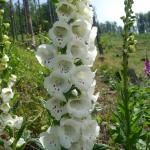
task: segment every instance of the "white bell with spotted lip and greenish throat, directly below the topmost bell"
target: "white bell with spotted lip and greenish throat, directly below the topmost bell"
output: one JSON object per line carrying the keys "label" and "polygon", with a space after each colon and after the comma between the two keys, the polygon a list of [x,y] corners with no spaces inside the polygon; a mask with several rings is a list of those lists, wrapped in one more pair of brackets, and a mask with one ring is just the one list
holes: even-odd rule
{"label": "white bell with spotted lip and greenish throat, directly below the topmost bell", "polygon": [[55,46],[64,48],[71,38],[70,26],[64,21],[55,22],[49,30],[49,37]]}

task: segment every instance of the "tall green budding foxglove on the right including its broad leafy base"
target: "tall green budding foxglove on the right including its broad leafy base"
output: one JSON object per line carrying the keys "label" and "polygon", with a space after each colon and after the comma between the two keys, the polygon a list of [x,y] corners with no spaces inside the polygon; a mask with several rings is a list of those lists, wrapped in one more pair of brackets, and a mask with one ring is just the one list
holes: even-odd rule
{"label": "tall green budding foxglove on the right including its broad leafy base", "polygon": [[[136,18],[132,10],[133,3],[134,0],[124,0],[125,16],[122,17],[124,23],[122,33],[122,82],[117,86],[118,105],[114,113],[115,128],[112,129],[114,131],[112,137],[115,139],[115,144],[118,143],[119,149],[123,148],[125,150],[139,149],[137,145],[139,145],[143,137],[145,128],[143,126],[145,106],[141,105],[142,94],[140,94],[139,89],[137,91],[133,90],[128,78],[129,54],[135,51],[137,43],[131,30]],[[139,106],[141,106],[140,109]]]}

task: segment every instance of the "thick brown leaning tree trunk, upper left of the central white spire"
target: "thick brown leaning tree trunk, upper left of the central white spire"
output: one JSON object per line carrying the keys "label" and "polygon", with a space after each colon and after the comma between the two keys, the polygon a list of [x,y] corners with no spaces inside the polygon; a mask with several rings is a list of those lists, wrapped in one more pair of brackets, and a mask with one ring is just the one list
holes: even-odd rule
{"label": "thick brown leaning tree trunk, upper left of the central white spire", "polygon": [[29,1],[23,0],[23,4],[24,4],[24,8],[25,8],[25,15],[26,15],[26,21],[27,21],[27,32],[28,32],[28,34],[31,35],[32,45],[35,46],[32,18],[31,18],[30,10],[29,10]]}

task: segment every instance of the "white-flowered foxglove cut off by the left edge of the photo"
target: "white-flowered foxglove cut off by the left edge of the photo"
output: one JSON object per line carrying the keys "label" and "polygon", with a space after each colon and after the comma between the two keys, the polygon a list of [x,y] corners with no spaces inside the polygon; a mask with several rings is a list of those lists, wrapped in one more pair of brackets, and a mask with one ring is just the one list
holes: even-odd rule
{"label": "white-flowered foxglove cut off by the left edge of the photo", "polygon": [[[8,23],[3,22],[4,10],[1,8],[5,0],[0,0],[0,149],[14,149],[23,139],[15,139],[17,130],[22,127],[23,118],[11,113],[10,101],[14,97],[12,87],[16,82],[16,76],[11,75],[7,81],[9,57],[5,54],[10,45],[9,37],[6,35]],[[6,88],[4,88],[6,87]],[[13,135],[13,134],[14,135]]]}

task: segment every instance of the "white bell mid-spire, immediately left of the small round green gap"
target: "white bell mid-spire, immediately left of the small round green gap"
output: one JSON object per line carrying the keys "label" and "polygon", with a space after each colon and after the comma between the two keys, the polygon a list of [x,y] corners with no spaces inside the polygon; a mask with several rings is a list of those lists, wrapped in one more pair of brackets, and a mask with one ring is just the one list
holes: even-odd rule
{"label": "white bell mid-spire, immediately left of the small round green gap", "polygon": [[62,74],[70,75],[74,64],[70,55],[59,55],[55,58],[53,63],[54,69],[59,70]]}

